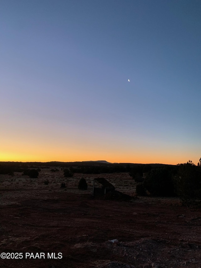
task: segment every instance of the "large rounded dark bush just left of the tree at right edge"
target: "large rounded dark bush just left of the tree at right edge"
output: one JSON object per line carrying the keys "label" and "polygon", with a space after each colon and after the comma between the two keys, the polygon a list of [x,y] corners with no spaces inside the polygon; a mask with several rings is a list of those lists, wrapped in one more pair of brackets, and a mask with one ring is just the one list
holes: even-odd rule
{"label": "large rounded dark bush just left of the tree at right edge", "polygon": [[150,170],[144,179],[144,187],[152,195],[174,195],[172,175],[166,168],[155,168]]}

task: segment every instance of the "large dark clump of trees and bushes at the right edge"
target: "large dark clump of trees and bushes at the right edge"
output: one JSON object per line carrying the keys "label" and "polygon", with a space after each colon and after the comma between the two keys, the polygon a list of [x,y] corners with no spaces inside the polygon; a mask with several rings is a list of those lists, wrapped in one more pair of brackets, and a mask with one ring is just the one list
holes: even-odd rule
{"label": "large dark clump of trees and bushes at the right edge", "polygon": [[149,167],[146,173],[136,167],[130,174],[137,182],[139,195],[178,196],[183,204],[201,200],[201,158],[198,165],[189,160],[177,166]]}

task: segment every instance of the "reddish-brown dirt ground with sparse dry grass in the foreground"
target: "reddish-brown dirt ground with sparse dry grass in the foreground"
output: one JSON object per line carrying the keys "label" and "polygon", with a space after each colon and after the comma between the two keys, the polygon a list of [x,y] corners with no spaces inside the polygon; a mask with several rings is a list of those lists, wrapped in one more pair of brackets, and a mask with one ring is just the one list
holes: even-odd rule
{"label": "reddish-brown dirt ground with sparse dry grass in the foreground", "polygon": [[[201,267],[199,208],[182,207],[177,198],[136,197],[128,173],[76,173],[68,179],[62,171],[39,174],[0,175],[0,253],[10,256],[2,255],[0,267]],[[82,177],[86,191],[77,188]],[[93,199],[92,180],[98,177],[133,199]],[[62,182],[67,188],[60,188]]]}

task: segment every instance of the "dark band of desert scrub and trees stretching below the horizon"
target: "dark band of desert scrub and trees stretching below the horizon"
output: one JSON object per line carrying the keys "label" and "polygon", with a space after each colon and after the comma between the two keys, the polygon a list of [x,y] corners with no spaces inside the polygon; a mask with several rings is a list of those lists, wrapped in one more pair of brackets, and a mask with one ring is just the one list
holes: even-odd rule
{"label": "dark band of desert scrub and trees stretching below the horizon", "polygon": [[[54,165],[54,166],[53,166]],[[201,200],[201,158],[197,165],[192,161],[177,165],[163,164],[110,164],[100,162],[47,162],[47,163],[22,163],[0,162],[0,174],[14,176],[21,172],[23,176],[38,178],[39,173],[51,167],[51,172],[58,174],[56,177],[72,178],[74,174],[129,174],[135,183],[135,192],[139,196],[176,196],[181,198],[183,204]],[[52,168],[54,167],[54,168]],[[40,177],[40,176],[39,176]],[[87,189],[87,182],[79,178],[79,189]],[[62,183],[62,178],[60,183]],[[54,180],[45,179],[43,183],[49,185]],[[129,183],[118,184],[129,187]],[[61,185],[61,184],[60,184]],[[68,183],[67,183],[68,185]]]}

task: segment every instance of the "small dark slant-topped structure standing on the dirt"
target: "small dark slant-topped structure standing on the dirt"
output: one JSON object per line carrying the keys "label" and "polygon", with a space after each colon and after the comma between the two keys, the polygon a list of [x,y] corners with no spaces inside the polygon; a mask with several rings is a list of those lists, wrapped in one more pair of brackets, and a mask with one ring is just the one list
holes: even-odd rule
{"label": "small dark slant-topped structure standing on the dirt", "polygon": [[[101,184],[101,186],[99,185]],[[115,187],[110,182],[108,182],[105,178],[96,178],[93,180],[93,192],[92,195],[95,194],[106,194],[108,192],[114,191]]]}

